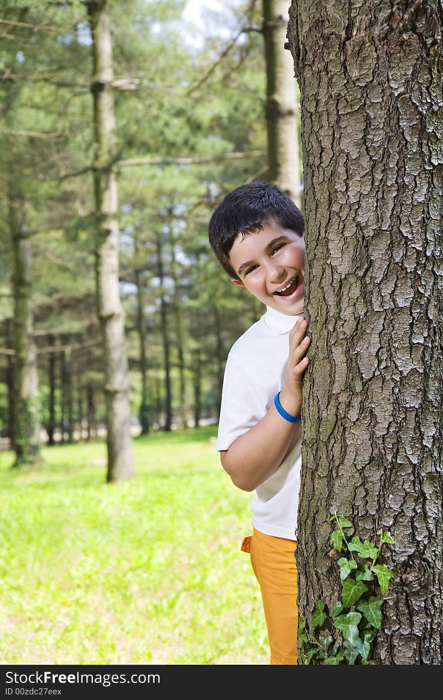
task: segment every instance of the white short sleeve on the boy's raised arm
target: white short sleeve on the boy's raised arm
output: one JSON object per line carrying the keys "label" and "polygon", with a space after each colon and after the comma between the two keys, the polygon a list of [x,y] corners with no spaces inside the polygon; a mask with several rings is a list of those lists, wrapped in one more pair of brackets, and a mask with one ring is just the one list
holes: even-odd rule
{"label": "white short sleeve on the boy's raised arm", "polygon": [[267,397],[260,395],[258,377],[253,377],[241,357],[227,356],[218,421],[217,449],[228,449],[267,412]]}

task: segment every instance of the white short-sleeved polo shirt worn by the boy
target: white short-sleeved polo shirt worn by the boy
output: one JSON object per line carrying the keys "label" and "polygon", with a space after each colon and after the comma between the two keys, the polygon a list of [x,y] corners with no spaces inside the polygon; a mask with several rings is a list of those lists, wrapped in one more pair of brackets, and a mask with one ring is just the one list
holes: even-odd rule
{"label": "white short-sleeved polo shirt worn by the boy", "polygon": [[[260,421],[283,388],[289,353],[289,332],[298,316],[270,307],[232,346],[227,356],[218,423],[217,449],[228,449],[237,437]],[[284,420],[283,418],[281,419]],[[297,539],[302,423],[283,462],[255,489],[252,522],[265,535]]]}

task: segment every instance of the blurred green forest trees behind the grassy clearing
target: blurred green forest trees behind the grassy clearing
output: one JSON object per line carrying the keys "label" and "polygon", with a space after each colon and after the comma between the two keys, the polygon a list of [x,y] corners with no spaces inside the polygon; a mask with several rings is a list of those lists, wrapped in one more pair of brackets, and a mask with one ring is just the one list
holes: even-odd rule
{"label": "blurred green forest trees behind the grassy clearing", "polygon": [[[267,175],[263,40],[241,31],[254,22],[260,27],[260,7],[196,5],[195,24],[185,19],[192,9],[191,3],[186,13],[186,4],[108,8],[118,160],[160,161],[118,168],[120,297],[134,433],[216,421],[227,351],[262,313],[250,295],[233,288],[207,241],[220,198]],[[82,3],[41,5],[26,21],[22,10],[24,26],[3,25],[12,36],[3,38],[1,158],[3,178],[22,188],[23,225],[31,232],[41,423],[54,440],[69,440],[80,436],[80,423],[85,437],[105,419],[88,170],[91,38]],[[183,157],[196,162],[176,162]],[[13,346],[13,247],[6,185],[3,179],[0,314],[7,351]],[[11,430],[13,360],[6,351],[3,436]]]}

